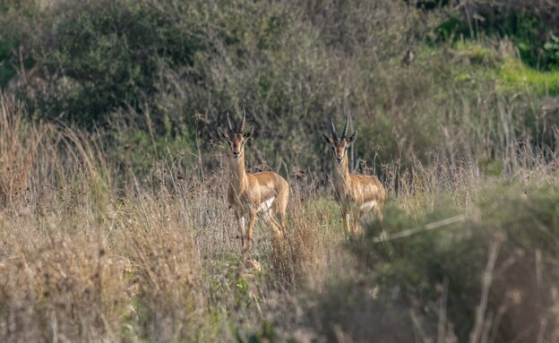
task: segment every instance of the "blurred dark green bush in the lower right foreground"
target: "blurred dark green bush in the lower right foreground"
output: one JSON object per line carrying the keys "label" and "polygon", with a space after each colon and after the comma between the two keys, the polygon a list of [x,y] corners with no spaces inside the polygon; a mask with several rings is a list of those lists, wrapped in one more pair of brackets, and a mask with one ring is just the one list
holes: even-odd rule
{"label": "blurred dark green bush in the lower right foreground", "polygon": [[[415,218],[392,204],[383,223],[349,245],[360,277],[339,279],[320,296],[314,315],[324,334],[331,336],[331,328],[339,327],[351,339],[367,341],[378,332],[413,337],[422,331],[435,340],[444,304],[446,337],[465,341],[476,327],[477,306],[484,303],[486,292],[486,311],[480,318],[490,341],[538,334],[550,341],[557,338],[557,189],[492,186],[479,194],[465,221],[375,243],[381,231],[390,237],[452,218],[458,212],[448,203],[442,200],[435,212]],[[488,269],[491,253],[496,260]],[[491,278],[485,286],[484,275]],[[386,311],[388,319],[379,321],[371,308]],[[404,330],[402,322],[410,320],[414,329],[404,325]],[[539,330],[542,323],[549,325],[545,331]]]}

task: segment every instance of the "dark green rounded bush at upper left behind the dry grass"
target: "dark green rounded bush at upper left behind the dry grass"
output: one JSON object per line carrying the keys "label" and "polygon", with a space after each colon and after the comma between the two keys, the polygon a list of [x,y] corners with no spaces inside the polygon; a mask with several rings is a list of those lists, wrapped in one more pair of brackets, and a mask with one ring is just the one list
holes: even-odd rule
{"label": "dark green rounded bush at upper left behind the dry grass", "polygon": [[149,2],[86,1],[49,14],[56,30],[36,52],[47,81],[34,99],[40,117],[107,123],[117,109],[150,101],[162,65],[193,64],[202,48],[191,18]]}

